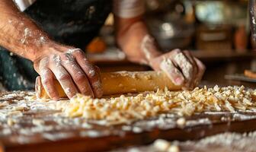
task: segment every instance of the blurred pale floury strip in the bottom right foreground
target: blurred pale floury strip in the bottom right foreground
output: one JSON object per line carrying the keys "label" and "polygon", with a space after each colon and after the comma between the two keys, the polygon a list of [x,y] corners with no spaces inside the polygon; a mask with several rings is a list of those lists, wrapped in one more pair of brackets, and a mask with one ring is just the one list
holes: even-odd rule
{"label": "blurred pale floury strip in the bottom right foreground", "polygon": [[254,152],[256,131],[248,133],[226,132],[197,141],[166,141],[157,139],[147,146],[128,147],[112,152]]}

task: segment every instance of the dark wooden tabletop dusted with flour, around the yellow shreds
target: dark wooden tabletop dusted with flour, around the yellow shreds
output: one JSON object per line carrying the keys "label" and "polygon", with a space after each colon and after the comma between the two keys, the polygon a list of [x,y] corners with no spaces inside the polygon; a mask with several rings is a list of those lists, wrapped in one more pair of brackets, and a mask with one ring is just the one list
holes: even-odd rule
{"label": "dark wooden tabletop dusted with flour, around the yellow shreds", "polygon": [[184,141],[223,131],[256,129],[252,106],[233,112],[194,112],[191,116],[165,112],[114,125],[105,119],[69,117],[59,108],[64,104],[69,106],[69,100],[37,100],[34,92],[1,93],[2,146],[6,151],[98,151],[149,144],[158,138]]}

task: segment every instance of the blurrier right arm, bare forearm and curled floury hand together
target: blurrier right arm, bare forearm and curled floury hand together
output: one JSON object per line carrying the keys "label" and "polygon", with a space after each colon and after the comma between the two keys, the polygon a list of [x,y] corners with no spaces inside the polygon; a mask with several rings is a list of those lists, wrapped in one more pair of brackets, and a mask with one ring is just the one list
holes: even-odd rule
{"label": "blurrier right arm, bare forearm and curled floury hand together", "polygon": [[126,58],[151,66],[155,71],[165,71],[176,85],[184,90],[193,89],[200,83],[205,66],[190,52],[174,49],[162,54],[154,37],[150,36],[142,16],[116,17],[117,44],[126,53]]}

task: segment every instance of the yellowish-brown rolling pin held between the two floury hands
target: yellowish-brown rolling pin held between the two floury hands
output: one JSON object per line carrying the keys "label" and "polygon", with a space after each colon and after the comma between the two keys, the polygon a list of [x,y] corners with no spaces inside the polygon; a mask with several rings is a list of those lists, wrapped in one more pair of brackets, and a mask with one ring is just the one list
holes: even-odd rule
{"label": "yellowish-brown rolling pin held between the two floury hands", "polygon": [[[117,71],[101,73],[103,95],[121,93],[139,93],[143,91],[155,91],[157,89],[181,90],[181,86],[174,85],[168,76],[162,71]],[[67,97],[59,81],[55,81],[59,97]],[[50,98],[43,88],[40,79],[36,81],[37,98]]]}

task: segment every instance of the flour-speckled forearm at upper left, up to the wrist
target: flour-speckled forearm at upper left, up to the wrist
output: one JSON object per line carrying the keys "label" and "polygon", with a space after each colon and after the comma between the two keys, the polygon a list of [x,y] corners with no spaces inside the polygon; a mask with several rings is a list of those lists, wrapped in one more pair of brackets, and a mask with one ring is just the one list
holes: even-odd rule
{"label": "flour-speckled forearm at upper left, up to the wrist", "polygon": [[34,61],[43,55],[43,47],[53,43],[13,1],[0,1],[0,46]]}

